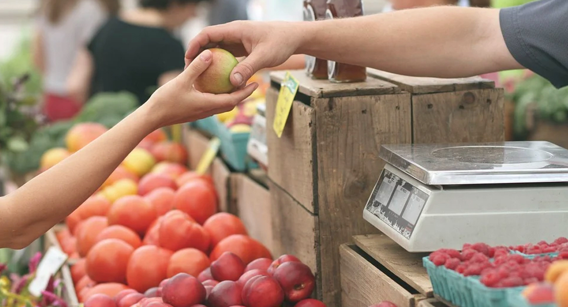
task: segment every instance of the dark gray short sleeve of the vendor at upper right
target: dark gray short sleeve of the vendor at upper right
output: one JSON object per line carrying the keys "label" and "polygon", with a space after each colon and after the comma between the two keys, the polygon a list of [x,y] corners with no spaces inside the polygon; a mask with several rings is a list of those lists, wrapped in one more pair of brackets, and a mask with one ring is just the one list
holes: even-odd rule
{"label": "dark gray short sleeve of the vendor at upper right", "polygon": [[538,0],[500,11],[509,52],[557,88],[568,86],[568,0]]}

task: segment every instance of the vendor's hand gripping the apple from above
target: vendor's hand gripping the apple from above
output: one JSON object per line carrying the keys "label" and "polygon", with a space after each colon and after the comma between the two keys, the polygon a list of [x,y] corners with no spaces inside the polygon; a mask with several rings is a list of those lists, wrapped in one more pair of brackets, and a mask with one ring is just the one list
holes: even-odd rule
{"label": "vendor's hand gripping the apple from above", "polygon": [[297,23],[236,21],[204,28],[189,43],[186,66],[207,48],[223,48],[246,58],[233,69],[231,83],[243,86],[258,70],[281,65],[301,44]]}

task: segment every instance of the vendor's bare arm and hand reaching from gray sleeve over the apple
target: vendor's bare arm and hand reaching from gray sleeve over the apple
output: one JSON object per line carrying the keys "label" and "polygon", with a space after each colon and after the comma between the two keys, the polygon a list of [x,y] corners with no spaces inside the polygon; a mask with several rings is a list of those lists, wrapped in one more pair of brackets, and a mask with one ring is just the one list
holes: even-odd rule
{"label": "vendor's bare arm and hand reaching from gray sleeve over the apple", "polygon": [[318,22],[233,22],[204,29],[189,44],[186,61],[214,46],[248,56],[233,70],[235,85],[298,53],[442,78],[521,68],[504,42],[497,9],[442,6]]}

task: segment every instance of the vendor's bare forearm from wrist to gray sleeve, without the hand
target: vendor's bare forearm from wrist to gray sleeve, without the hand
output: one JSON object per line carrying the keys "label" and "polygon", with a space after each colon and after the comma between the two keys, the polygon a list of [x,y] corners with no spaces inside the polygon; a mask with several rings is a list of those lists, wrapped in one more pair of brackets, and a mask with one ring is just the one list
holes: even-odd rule
{"label": "vendor's bare forearm from wrist to gray sleeve, without the hand", "polygon": [[396,74],[453,78],[521,68],[495,9],[430,7],[298,28],[304,43],[297,53]]}

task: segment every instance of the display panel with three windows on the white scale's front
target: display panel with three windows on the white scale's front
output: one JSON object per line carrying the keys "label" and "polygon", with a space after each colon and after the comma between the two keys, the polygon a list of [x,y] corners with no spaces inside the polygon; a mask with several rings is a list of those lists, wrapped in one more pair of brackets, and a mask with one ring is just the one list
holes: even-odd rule
{"label": "display panel with three windows on the white scale's front", "polygon": [[427,200],[424,191],[385,169],[365,209],[410,239]]}

